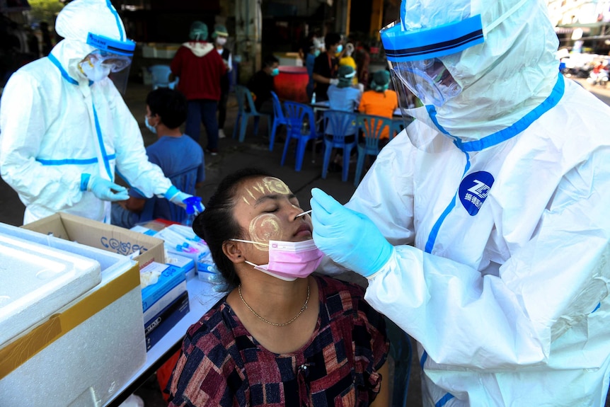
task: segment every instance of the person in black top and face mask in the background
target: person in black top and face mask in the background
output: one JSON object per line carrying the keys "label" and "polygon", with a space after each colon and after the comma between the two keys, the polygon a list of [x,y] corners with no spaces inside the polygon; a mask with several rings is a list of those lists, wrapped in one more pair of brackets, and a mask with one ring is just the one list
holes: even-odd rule
{"label": "person in black top and face mask in the background", "polygon": [[[326,44],[326,52],[321,53],[316,57],[316,62],[313,64],[313,81],[316,82],[316,101],[328,101],[326,91],[328,86],[337,85],[337,71],[339,67],[339,59],[337,54],[343,49],[341,45],[341,35],[338,33],[328,33],[324,37]],[[340,50],[340,48],[342,48]]]}

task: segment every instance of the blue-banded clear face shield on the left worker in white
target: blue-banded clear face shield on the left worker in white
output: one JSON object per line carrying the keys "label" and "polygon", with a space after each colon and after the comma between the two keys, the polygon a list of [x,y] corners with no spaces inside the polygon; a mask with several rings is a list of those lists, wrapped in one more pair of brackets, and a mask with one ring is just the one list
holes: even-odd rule
{"label": "blue-banded clear face shield on the left worker in white", "polygon": [[108,76],[117,90],[125,94],[130,76],[135,42],[113,40],[89,33],[87,44],[97,49],[89,53],[79,64],[81,71],[93,82]]}

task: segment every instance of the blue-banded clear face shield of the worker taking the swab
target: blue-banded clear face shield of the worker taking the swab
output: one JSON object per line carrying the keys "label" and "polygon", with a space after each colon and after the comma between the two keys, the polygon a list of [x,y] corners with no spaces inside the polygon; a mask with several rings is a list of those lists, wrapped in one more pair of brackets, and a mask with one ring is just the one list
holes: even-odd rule
{"label": "blue-banded clear face shield of the worker taking the swab", "polygon": [[[480,16],[413,31],[403,30],[396,22],[381,30],[381,41],[406,127],[413,121],[406,110],[418,106],[416,98],[423,105],[440,107],[459,96],[462,86],[451,75],[447,61],[459,60],[462,50],[483,43],[483,28]],[[418,149],[433,151],[439,141],[431,139],[431,134],[408,135]],[[451,142],[442,138],[441,144]]]}

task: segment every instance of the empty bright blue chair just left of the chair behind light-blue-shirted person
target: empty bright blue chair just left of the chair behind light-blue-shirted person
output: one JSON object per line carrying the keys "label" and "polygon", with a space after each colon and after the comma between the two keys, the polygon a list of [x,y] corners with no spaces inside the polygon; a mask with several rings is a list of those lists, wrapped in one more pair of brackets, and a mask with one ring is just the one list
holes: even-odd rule
{"label": "empty bright blue chair just left of the chair behind light-blue-shirted person", "polygon": [[[307,142],[315,140],[320,137],[316,130],[316,120],[313,115],[313,109],[310,105],[298,102],[284,102],[284,109],[286,110],[287,120],[287,134],[286,141],[284,142],[284,152],[282,153],[281,165],[284,165],[286,160],[286,154],[288,152],[288,146],[293,139],[297,140],[297,151],[296,151],[296,164],[294,166],[295,171],[301,171],[303,166],[303,157],[305,155],[305,149]],[[314,156],[315,143],[313,143],[311,154]]]}

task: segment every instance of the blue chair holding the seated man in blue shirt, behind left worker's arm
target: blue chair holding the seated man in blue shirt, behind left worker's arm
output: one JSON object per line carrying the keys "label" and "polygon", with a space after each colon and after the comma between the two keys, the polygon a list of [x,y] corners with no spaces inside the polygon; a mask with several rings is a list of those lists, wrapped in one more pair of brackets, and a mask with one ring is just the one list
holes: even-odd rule
{"label": "blue chair holding the seated man in blue shirt, behind left worker's arm", "polygon": [[[175,186],[175,188],[178,188],[183,193],[195,195],[195,183],[197,183],[198,169],[199,166],[187,168],[185,171],[168,176],[168,178],[171,180],[171,183]],[[175,205],[166,198],[153,196],[146,200],[144,209],[140,214],[139,222],[148,222],[149,220],[153,220],[153,214],[155,212],[157,214],[169,214],[169,219],[167,220],[178,223],[183,223],[187,217],[186,210],[183,207]]]}

